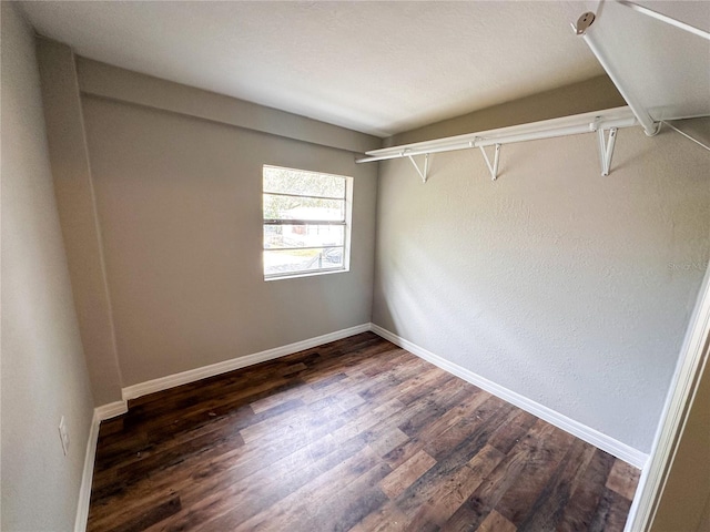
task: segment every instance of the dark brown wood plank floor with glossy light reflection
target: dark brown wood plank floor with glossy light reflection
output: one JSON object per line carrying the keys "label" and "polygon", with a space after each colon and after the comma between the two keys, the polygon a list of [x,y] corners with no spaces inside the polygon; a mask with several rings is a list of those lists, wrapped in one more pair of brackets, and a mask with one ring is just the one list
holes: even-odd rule
{"label": "dark brown wood plank floor with glossy light reflection", "polygon": [[366,332],[131,401],[90,531],[620,531],[639,471]]}

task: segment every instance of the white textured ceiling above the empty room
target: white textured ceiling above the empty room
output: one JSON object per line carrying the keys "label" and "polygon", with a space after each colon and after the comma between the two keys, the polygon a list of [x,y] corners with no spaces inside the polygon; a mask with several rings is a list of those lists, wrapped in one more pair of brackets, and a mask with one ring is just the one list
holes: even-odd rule
{"label": "white textured ceiling above the empty room", "polygon": [[589,2],[22,7],[80,55],[378,136],[604,73],[570,29]]}

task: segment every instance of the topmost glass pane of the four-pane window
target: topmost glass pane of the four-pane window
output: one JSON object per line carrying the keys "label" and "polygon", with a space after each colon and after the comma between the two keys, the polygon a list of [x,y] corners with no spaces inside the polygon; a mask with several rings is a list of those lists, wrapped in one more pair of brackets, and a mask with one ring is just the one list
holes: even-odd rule
{"label": "topmost glass pane of the four-pane window", "polygon": [[264,192],[343,198],[345,197],[345,177],[264,166]]}

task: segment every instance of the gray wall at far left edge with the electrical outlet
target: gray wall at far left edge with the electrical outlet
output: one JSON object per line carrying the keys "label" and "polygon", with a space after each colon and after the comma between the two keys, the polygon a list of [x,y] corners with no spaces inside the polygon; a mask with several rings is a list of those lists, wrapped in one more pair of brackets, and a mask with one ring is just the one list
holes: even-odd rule
{"label": "gray wall at far left edge with the electrical outlet", "polygon": [[[2,520],[72,530],[93,399],[57,214],[32,30],[2,2]],[[62,454],[64,416],[71,444]]]}

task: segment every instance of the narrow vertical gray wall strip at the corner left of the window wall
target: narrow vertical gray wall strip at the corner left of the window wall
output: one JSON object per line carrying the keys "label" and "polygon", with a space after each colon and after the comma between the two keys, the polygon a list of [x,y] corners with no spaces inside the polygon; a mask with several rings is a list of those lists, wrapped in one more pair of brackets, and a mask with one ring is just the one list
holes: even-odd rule
{"label": "narrow vertical gray wall strip at the corner left of the window wall", "polygon": [[101,231],[97,222],[74,54],[37,39],[54,195],[64,236],[81,341],[97,406],[121,399]]}

